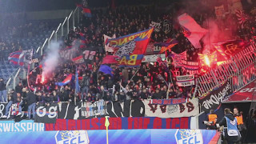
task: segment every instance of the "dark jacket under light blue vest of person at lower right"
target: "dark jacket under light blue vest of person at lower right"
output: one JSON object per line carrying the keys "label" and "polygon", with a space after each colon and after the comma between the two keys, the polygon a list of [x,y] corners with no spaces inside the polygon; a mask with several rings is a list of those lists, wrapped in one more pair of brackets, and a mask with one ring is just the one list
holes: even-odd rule
{"label": "dark jacket under light blue vest of person at lower right", "polygon": [[[225,117],[229,118],[231,121],[234,120],[234,115],[233,114],[226,114]],[[225,117],[223,117],[222,120],[219,122],[219,126],[226,127],[226,118]],[[238,142],[239,139],[240,139],[240,137],[238,137],[238,136],[233,136],[233,137],[228,136],[227,129],[224,129],[224,133],[225,133],[225,138],[226,138],[227,141]]]}

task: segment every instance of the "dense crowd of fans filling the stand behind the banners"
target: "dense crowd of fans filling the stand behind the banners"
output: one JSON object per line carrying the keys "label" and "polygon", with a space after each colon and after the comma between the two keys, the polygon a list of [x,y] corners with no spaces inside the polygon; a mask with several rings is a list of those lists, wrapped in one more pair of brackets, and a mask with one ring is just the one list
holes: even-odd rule
{"label": "dense crowd of fans filling the stand behind the banners", "polygon": [[[72,61],[59,63],[54,72],[48,74],[45,80],[42,80],[42,66],[38,64],[38,66],[35,66],[30,71],[28,80],[22,79],[18,86],[15,87],[15,90],[9,91],[6,110],[10,108],[12,103],[22,101],[22,104],[26,103],[29,111],[31,109],[34,111],[37,102],[44,102],[46,105],[49,105],[51,102],[95,102],[99,99],[122,102],[127,99],[137,98],[193,97],[194,86],[177,86],[174,73],[171,73],[176,70],[174,64],[167,64],[162,62],[162,60],[160,60],[161,62],[142,63],[138,68],[119,68],[118,66],[111,65],[113,77],[98,72],[98,68],[102,64],[102,58],[110,54],[104,50],[103,34],[109,36],[116,34],[118,38],[119,36],[146,30],[150,27],[150,22],[152,21],[163,22],[166,20],[170,22],[170,30],[167,32],[162,29],[154,31],[150,42],[170,42],[170,40],[176,39],[178,45],[174,46],[172,51],[179,54],[187,50],[187,59],[198,62],[198,53],[202,53],[202,49],[195,49],[185,37],[184,30],[178,25],[178,22],[175,22],[174,13],[164,14],[156,12],[154,6],[119,6],[114,10],[110,8],[95,9],[92,10],[92,14],[92,18],[83,16],[79,26],[70,30],[61,45],[65,48],[78,46],[76,56],[87,48],[95,47],[96,55],[94,59],[79,66],[75,65]],[[192,17],[198,23],[203,24],[206,18],[211,16],[196,14],[192,15]],[[231,14],[230,18],[234,18],[234,14]],[[234,37],[246,40],[254,39],[255,29],[252,25],[254,25],[254,22],[248,22],[244,27],[232,30],[231,36],[234,35]],[[221,30],[225,30],[225,26],[227,25],[221,25]],[[81,39],[81,35],[84,36],[85,40]],[[12,47],[11,50],[10,47]],[[17,44],[11,44],[11,46],[6,46],[5,42],[0,42],[0,50],[6,50],[4,53],[1,53],[2,57],[0,55],[0,58],[6,59],[6,54],[18,49],[22,49],[18,42]],[[169,52],[167,52],[168,54]],[[69,74],[75,75],[76,70],[78,70],[81,92],[75,93],[74,76],[72,81],[66,86],[56,85],[57,82],[62,82]],[[178,69],[178,71],[180,75],[186,74],[186,71],[182,69]],[[198,75],[200,73],[195,74],[195,78]],[[170,88],[168,88],[169,83]],[[5,88],[1,87],[2,90],[5,90]],[[20,105],[20,108],[22,106]]]}

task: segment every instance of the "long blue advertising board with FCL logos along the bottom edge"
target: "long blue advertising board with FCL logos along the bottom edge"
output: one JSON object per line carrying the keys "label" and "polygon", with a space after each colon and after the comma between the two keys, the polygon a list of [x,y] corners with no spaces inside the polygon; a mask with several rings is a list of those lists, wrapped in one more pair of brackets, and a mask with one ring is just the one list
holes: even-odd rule
{"label": "long blue advertising board with FCL logos along the bottom edge", "polygon": [[[109,143],[209,143],[216,130],[108,130]],[[1,143],[106,143],[106,130],[7,132]]]}

